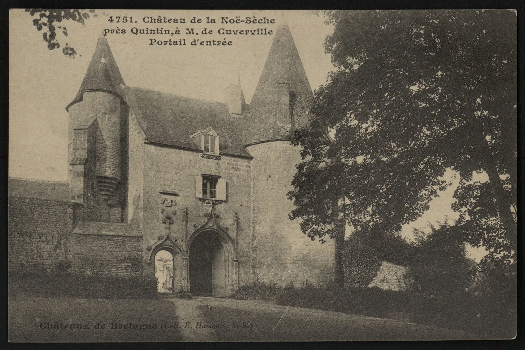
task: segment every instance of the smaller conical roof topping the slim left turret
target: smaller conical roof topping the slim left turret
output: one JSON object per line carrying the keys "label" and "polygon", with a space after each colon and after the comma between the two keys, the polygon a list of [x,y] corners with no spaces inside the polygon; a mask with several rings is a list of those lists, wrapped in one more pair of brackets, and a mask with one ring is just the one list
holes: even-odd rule
{"label": "smaller conical roof topping the slim left turret", "polygon": [[81,101],[82,94],[85,91],[108,91],[124,99],[124,86],[124,79],[122,79],[119,67],[113,58],[108,40],[101,35],[98,38],[95,53],[93,53],[93,57],[91,57],[91,62],[89,63],[88,70],[86,71],[84,80],[82,80],[77,96],[75,96],[66,107],[66,110],[68,110],[71,105]]}

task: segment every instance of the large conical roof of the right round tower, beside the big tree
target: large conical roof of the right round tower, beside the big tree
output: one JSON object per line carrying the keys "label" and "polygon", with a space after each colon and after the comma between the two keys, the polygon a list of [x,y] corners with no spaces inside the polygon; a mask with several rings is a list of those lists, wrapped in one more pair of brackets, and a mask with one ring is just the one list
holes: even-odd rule
{"label": "large conical roof of the right round tower, beside the big tree", "polygon": [[[290,87],[291,125],[279,125],[278,85]],[[275,32],[266,64],[245,117],[244,143],[289,139],[293,129],[308,123],[313,94],[290,28],[286,23]]]}

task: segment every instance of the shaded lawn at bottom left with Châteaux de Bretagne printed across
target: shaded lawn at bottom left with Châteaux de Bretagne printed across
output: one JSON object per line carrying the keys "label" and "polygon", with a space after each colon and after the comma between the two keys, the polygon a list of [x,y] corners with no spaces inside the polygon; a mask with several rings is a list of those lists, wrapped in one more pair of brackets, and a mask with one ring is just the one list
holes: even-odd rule
{"label": "shaded lawn at bottom left with Ch\u00e2teaux de Bretagne printed across", "polygon": [[[161,330],[160,324],[177,320],[174,304],[162,300],[24,295],[8,299],[10,342],[176,342],[182,341],[180,330]],[[86,324],[89,329],[48,329],[47,323]],[[111,323],[158,326],[141,331],[111,329]],[[102,324],[106,327],[100,328]]]}

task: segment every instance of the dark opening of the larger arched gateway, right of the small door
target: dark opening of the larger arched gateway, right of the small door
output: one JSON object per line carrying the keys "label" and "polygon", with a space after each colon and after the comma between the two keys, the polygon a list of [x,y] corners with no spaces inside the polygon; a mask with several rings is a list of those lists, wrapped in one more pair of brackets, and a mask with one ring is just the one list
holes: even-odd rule
{"label": "dark opening of the larger arched gateway, right of the small door", "polygon": [[188,252],[190,292],[226,296],[231,287],[231,257],[227,242],[213,230],[195,235]]}

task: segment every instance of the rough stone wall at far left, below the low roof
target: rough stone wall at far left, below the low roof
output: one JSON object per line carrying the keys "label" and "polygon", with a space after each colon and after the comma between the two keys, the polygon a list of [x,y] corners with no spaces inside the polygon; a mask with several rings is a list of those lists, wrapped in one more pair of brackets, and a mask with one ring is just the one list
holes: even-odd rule
{"label": "rough stone wall at far left, below the low roof", "polygon": [[9,271],[53,272],[69,260],[75,203],[9,197]]}

